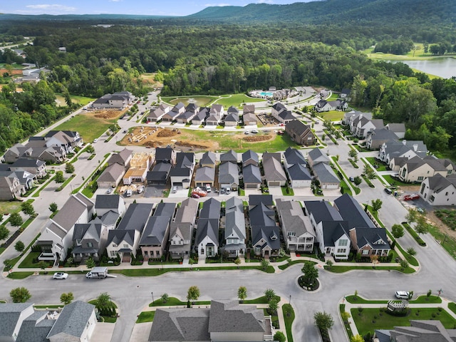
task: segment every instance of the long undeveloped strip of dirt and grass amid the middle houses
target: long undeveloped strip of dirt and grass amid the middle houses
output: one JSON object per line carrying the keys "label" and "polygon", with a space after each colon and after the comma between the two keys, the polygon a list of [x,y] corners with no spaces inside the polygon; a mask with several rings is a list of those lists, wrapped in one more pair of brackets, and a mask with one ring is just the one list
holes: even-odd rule
{"label": "long undeveloped strip of dirt and grass amid the middle houses", "polygon": [[[244,135],[239,132],[219,132],[213,130],[172,130],[171,128],[135,128],[126,135],[119,145],[136,145],[148,147],[165,147],[171,145],[180,150],[237,152],[254,149],[259,152],[283,151],[289,146],[296,146],[288,135],[277,135],[274,132]],[[129,141],[131,138],[131,142]],[[251,140],[251,141],[249,141]],[[253,141],[252,141],[253,140]]]}

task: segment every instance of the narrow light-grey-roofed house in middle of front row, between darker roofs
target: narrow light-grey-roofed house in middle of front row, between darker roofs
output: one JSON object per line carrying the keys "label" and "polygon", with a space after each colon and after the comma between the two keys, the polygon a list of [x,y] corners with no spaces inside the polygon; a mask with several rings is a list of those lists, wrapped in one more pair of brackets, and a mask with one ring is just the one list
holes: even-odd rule
{"label": "narrow light-grey-roofed house in middle of front row, between darker roofs", "polygon": [[225,202],[224,251],[229,257],[244,254],[246,248],[244,203],[239,197],[229,197]]}

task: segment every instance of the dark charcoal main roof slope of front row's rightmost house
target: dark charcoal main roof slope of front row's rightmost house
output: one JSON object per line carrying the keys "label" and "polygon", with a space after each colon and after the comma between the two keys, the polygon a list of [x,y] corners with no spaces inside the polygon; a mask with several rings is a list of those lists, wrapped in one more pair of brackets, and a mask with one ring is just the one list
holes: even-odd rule
{"label": "dark charcoal main roof slope of front row's rightmost house", "polygon": [[371,227],[375,228],[368,214],[364,212],[361,205],[348,194],[343,194],[334,200],[341,217],[348,222],[350,228]]}

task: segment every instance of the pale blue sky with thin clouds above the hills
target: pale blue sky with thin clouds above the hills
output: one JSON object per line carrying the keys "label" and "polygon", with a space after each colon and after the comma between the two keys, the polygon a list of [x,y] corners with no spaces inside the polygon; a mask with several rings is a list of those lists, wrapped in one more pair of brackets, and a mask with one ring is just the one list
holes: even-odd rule
{"label": "pale blue sky with thin clouds above the hills", "polygon": [[308,1],[311,0],[0,0],[0,13],[187,16],[202,11],[207,6],[292,4]]}

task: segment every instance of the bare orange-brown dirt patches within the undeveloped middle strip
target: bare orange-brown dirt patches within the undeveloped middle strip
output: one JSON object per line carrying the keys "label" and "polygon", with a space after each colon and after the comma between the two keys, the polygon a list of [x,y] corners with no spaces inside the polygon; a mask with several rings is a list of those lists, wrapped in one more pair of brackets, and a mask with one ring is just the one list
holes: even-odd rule
{"label": "bare orange-brown dirt patches within the undeveloped middle strip", "polygon": [[[240,143],[242,141],[266,141],[274,139],[275,137],[275,133],[249,136],[239,133],[230,135],[229,139],[239,140]],[[198,150],[220,150],[220,145],[217,140],[202,140],[200,136],[192,133],[190,130],[181,131],[173,128],[152,128],[147,126],[143,126],[143,128],[135,128],[132,133],[123,138],[121,144],[146,147],[166,147],[167,145],[170,145],[180,150],[195,152]]]}

